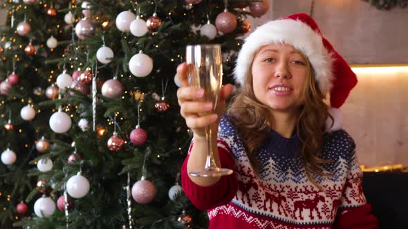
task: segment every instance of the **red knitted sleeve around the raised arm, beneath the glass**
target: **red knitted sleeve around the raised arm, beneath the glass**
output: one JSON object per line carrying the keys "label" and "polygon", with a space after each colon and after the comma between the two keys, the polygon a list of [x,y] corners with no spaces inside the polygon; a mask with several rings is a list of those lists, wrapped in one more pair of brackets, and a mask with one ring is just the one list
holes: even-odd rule
{"label": "red knitted sleeve around the raised arm, beneath the glass", "polygon": [[[230,168],[234,170],[234,159],[227,144],[219,141],[218,144],[219,158],[223,168]],[[190,147],[191,150],[192,147]],[[189,150],[189,152],[190,152]],[[187,195],[188,199],[192,201],[194,206],[200,210],[207,210],[230,203],[232,198],[237,194],[238,182],[235,170],[232,175],[223,176],[219,181],[212,186],[198,186],[187,175],[187,161],[189,155],[185,158],[183,166],[181,167],[181,186]]]}

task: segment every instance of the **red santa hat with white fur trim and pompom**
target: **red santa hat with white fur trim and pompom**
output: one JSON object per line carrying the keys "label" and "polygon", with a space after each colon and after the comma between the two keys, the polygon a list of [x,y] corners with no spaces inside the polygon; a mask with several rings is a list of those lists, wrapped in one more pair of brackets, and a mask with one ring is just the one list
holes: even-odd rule
{"label": "red santa hat with white fur trim and pompom", "polygon": [[[285,18],[269,21],[254,30],[243,43],[234,69],[234,79],[243,85],[250,74],[254,54],[262,46],[272,43],[286,43],[308,57],[314,70],[319,89],[330,91],[331,108],[329,112],[335,119],[333,130],[342,128],[341,112],[338,110],[357,84],[357,77],[349,65],[338,54],[330,42],[323,37],[317,23],[308,14],[293,14]],[[330,121],[326,126],[330,127]]]}

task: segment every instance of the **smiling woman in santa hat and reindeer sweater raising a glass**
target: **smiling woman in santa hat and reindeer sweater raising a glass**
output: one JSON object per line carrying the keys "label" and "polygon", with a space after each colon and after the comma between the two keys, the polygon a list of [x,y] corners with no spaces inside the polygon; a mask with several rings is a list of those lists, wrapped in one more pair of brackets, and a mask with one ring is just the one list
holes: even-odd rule
{"label": "smiling woman in santa hat and reindeer sweater raising a glass", "polygon": [[[180,113],[194,132],[182,186],[210,228],[378,228],[362,192],[353,139],[341,129],[340,108],[357,83],[340,54],[307,14],[260,26],[245,39],[234,79],[241,86],[225,112],[232,86],[221,90],[216,113],[199,101],[178,66]],[[191,177],[205,165],[204,127],[217,132],[216,163],[224,177]]]}

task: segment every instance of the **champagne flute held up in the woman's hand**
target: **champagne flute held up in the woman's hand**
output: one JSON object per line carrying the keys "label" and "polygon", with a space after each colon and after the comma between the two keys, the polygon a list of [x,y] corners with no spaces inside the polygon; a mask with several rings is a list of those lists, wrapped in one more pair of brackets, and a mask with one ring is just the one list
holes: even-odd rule
{"label": "champagne flute held up in the woman's hand", "polygon": [[[215,112],[219,102],[221,84],[223,82],[223,61],[221,58],[221,46],[219,44],[206,44],[187,46],[186,61],[188,66],[189,86],[203,88],[205,96],[203,101],[211,101],[214,104],[212,112]],[[209,115],[212,112],[205,112],[199,115]],[[205,127],[205,139],[207,140],[207,160],[205,168],[201,171],[189,172],[194,177],[220,177],[231,175],[232,170],[219,168],[214,160],[212,128]]]}

